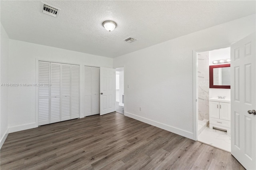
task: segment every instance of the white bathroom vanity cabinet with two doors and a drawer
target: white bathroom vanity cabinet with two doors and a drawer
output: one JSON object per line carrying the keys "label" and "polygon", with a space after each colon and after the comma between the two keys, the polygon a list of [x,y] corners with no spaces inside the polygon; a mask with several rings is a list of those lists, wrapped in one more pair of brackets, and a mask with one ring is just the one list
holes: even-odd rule
{"label": "white bathroom vanity cabinet with two doors and a drawer", "polygon": [[209,127],[221,128],[230,133],[230,100],[209,99]]}

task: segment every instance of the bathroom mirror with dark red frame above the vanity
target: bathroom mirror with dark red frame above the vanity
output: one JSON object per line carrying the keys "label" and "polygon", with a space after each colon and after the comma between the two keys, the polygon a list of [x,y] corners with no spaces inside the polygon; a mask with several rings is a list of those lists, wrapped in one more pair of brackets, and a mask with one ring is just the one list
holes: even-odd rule
{"label": "bathroom mirror with dark red frame above the vanity", "polygon": [[230,64],[210,65],[210,88],[230,89]]}

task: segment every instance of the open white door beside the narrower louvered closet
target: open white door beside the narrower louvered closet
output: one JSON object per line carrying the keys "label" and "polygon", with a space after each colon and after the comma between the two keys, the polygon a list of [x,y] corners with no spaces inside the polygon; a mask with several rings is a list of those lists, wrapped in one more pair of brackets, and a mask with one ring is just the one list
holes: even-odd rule
{"label": "open white door beside the narrower louvered closet", "polygon": [[100,67],[100,115],[114,112],[114,69]]}

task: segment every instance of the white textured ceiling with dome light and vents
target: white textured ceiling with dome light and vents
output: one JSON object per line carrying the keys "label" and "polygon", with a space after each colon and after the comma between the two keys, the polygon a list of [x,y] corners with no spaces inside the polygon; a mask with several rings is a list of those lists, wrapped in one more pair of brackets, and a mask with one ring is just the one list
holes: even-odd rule
{"label": "white textured ceiling with dome light and vents", "polygon": [[[256,1],[244,0],[43,2],[61,9],[58,18],[43,14],[41,1],[0,1],[10,39],[112,58],[256,13]],[[106,31],[105,20],[117,28]]]}

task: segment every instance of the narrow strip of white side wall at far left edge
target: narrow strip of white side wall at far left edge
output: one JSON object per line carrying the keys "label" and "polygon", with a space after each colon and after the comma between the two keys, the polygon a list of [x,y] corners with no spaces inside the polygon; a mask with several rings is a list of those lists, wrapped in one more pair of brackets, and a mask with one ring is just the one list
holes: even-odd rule
{"label": "narrow strip of white side wall at far left edge", "polygon": [[[8,82],[9,37],[1,24],[0,83]],[[0,87],[0,148],[8,135],[8,87]]]}

